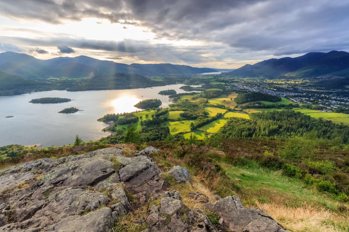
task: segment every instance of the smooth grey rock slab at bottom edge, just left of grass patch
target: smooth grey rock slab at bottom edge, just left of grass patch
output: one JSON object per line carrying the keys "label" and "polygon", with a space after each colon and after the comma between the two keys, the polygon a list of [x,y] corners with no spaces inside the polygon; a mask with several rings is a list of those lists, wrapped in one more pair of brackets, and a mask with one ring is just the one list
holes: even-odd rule
{"label": "smooth grey rock slab at bottom edge, just left of grass patch", "polygon": [[53,232],[102,232],[112,227],[111,209],[101,208],[84,216],[66,217],[45,231]]}

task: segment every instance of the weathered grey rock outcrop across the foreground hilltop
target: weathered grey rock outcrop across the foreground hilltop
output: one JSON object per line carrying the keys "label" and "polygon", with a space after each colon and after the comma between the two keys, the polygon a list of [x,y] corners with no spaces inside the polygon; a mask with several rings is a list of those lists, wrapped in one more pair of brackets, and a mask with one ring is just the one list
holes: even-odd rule
{"label": "weathered grey rock outcrop across the foreground hilltop", "polygon": [[[125,157],[124,149],[45,158],[0,170],[0,231],[108,231],[121,215],[157,199],[160,203],[138,220],[148,224],[145,232],[217,232],[228,227],[237,232],[285,231],[269,215],[245,209],[235,196],[206,203],[222,217],[213,225],[199,208],[185,206],[178,192],[166,191],[169,185],[159,177],[161,171],[145,156],[158,149],[132,152],[134,157]],[[190,181],[186,169],[175,167],[171,173],[178,182]],[[129,192],[137,205],[129,202]],[[191,195],[206,199],[201,193]]]}

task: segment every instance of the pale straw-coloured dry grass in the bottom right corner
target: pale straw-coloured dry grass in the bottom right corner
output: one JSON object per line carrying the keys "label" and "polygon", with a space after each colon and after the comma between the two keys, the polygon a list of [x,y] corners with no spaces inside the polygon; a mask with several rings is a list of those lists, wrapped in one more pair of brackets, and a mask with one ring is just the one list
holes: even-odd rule
{"label": "pale straw-coloured dry grass in the bottom right corner", "polygon": [[339,216],[329,210],[313,208],[307,204],[303,207],[289,208],[275,203],[259,203],[276,221],[294,232],[348,232],[349,216]]}

